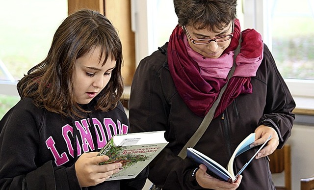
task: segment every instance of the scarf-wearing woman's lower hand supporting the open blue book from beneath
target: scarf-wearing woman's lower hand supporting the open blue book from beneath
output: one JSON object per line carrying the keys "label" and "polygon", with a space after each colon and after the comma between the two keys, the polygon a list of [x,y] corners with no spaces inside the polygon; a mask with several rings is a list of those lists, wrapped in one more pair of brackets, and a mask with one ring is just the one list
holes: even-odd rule
{"label": "scarf-wearing woman's lower hand supporting the open blue book from beneath", "polygon": [[213,190],[235,190],[239,187],[242,176],[239,175],[237,180],[234,183],[229,183],[225,181],[221,181],[217,178],[210,176],[206,173],[207,167],[204,164],[200,164],[200,169],[196,172],[196,181],[197,183],[206,189]]}

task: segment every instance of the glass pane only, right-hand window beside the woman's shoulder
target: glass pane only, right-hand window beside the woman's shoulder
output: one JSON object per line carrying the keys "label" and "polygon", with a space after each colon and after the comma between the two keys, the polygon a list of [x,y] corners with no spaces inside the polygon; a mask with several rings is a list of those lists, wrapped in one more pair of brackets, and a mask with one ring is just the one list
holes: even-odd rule
{"label": "glass pane only, right-hand window beside the woman's shoulder", "polygon": [[285,78],[314,79],[314,0],[272,0],[272,50]]}

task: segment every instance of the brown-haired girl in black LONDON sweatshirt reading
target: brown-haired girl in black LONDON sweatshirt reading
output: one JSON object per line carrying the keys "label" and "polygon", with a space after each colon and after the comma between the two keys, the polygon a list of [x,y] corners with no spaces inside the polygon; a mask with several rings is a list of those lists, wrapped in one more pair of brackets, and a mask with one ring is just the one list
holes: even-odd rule
{"label": "brown-haired girl in black LONDON sweatshirt reading", "polygon": [[21,100],[0,121],[0,189],[141,190],[106,181],[121,163],[97,156],[113,135],[128,133],[120,102],[122,46],[102,14],[79,10],[56,30],[47,57],[18,82]]}

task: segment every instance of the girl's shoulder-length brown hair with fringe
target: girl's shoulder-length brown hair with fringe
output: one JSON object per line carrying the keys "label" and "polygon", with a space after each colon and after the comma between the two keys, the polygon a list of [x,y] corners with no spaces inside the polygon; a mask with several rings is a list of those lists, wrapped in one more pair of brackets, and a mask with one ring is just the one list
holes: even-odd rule
{"label": "girl's shoulder-length brown hair with fringe", "polygon": [[105,64],[109,56],[116,60],[111,79],[97,97],[97,110],[117,106],[123,93],[122,45],[110,21],[96,11],[82,9],[69,15],[57,28],[47,57],[31,68],[18,82],[21,98],[32,98],[35,105],[65,116],[81,116],[73,89],[75,62],[90,50],[100,47]]}

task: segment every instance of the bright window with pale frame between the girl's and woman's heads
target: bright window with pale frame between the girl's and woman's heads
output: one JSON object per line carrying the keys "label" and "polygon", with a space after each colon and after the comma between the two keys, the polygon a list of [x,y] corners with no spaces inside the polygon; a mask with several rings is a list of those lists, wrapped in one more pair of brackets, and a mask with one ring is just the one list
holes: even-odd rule
{"label": "bright window with pale frame between the girl's and woman's heads", "polygon": [[135,63],[164,45],[178,24],[172,0],[131,0]]}

